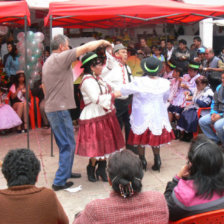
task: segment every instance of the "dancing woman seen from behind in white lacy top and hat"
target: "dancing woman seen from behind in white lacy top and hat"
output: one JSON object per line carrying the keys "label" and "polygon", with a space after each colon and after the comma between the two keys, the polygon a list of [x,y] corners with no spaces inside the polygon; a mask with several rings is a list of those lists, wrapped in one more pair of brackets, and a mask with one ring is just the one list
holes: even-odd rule
{"label": "dancing woman seen from behind in white lacy top and hat", "polygon": [[160,60],[154,57],[145,58],[141,61],[141,67],[144,76],[123,85],[120,90],[122,96],[133,94],[128,144],[138,146],[139,157],[145,170],[147,161],[144,146],[150,145],[154,154],[152,169],[160,170],[160,145],[175,138],[166,107],[170,82],[158,77],[162,68]]}

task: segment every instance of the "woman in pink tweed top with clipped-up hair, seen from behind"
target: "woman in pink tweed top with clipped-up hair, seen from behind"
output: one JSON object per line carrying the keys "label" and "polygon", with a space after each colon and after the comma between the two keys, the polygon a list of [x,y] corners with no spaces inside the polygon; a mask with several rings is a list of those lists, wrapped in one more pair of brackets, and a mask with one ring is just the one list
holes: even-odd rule
{"label": "woman in pink tweed top with clipped-up hair, seen from behind", "polygon": [[129,150],[109,158],[108,179],[113,188],[109,198],[90,202],[76,215],[73,224],[168,223],[168,209],[159,192],[142,192],[140,159]]}

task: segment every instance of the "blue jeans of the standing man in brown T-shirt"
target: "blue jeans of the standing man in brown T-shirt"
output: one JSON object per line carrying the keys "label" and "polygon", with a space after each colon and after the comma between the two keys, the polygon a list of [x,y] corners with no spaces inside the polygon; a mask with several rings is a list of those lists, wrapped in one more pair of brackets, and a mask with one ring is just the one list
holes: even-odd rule
{"label": "blue jeans of the standing man in brown T-shirt", "polygon": [[56,172],[54,185],[65,185],[70,178],[75,153],[75,138],[72,119],[69,111],[46,113],[59,148],[59,168]]}

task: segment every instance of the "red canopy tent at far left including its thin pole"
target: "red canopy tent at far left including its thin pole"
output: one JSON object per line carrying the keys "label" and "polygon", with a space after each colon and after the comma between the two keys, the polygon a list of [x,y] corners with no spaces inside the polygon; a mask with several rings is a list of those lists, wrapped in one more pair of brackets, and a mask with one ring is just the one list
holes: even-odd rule
{"label": "red canopy tent at far left including its thin pole", "polygon": [[[27,39],[27,25],[30,25],[30,11],[26,1],[7,1],[0,3],[0,24],[4,26],[24,26],[25,40]],[[27,49],[25,41],[25,49]],[[25,65],[27,65],[27,51],[25,50]],[[26,74],[26,99],[28,102],[28,81],[27,66]],[[26,104],[27,120],[29,120],[29,105]],[[29,149],[29,122],[27,127],[27,148]]]}

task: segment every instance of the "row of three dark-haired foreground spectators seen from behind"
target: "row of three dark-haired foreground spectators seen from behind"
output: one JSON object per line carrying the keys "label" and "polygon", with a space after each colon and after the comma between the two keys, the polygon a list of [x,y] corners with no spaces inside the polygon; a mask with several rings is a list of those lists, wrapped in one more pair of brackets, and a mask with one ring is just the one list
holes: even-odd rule
{"label": "row of three dark-haired foreground spectators seen from behind", "polygon": [[[167,183],[164,195],[142,192],[144,172],[139,157],[130,150],[115,152],[107,167],[110,196],[88,203],[75,214],[73,224],[167,224],[169,220],[223,209],[223,168],[223,152],[201,135],[192,141],[186,165]],[[8,188],[0,190],[2,223],[69,223],[56,194],[35,186],[40,169],[39,160],[29,149],[7,153],[2,173]]]}

